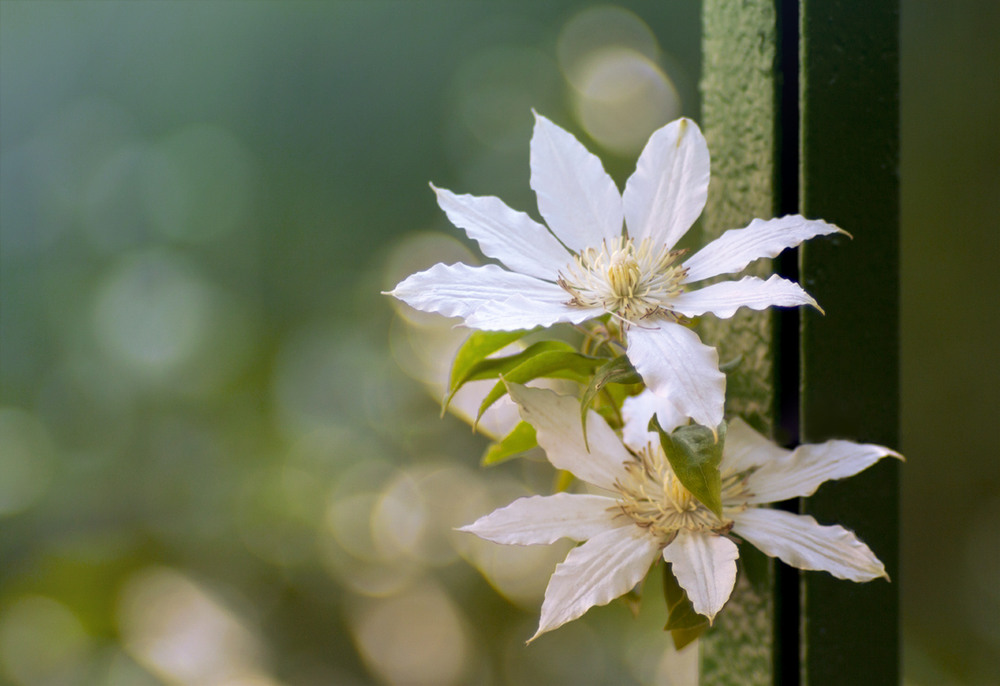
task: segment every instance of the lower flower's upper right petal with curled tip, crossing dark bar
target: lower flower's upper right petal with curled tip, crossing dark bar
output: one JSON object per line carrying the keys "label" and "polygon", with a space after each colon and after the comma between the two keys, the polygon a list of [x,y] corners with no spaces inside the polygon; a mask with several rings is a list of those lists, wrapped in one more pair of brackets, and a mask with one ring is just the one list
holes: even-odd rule
{"label": "lower flower's upper right petal with curled tip, crossing dark bar", "polygon": [[747,485],[753,497],[747,502],[773,503],[812,495],[824,481],[853,476],[883,457],[903,457],[881,445],[840,440],[800,445],[784,453],[750,475]]}

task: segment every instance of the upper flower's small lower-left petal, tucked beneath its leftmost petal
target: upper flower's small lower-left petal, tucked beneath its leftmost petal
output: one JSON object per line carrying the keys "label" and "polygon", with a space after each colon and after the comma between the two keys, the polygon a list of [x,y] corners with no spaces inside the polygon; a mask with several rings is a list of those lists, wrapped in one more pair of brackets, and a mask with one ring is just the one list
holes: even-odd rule
{"label": "upper flower's small lower-left petal, tucked beneath its leftmost petal", "polygon": [[534,292],[522,291],[506,300],[484,303],[470,314],[465,323],[474,329],[516,331],[536,326],[551,326],[557,322],[579,324],[604,314],[598,307],[576,307],[566,302],[566,291],[558,286],[538,281]]}

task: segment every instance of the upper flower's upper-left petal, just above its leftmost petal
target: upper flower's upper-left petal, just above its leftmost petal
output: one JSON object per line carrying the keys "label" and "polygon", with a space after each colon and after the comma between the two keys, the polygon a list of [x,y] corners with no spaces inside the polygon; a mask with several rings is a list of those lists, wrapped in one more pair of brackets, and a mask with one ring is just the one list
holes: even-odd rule
{"label": "upper flower's upper-left petal, just above its leftmost petal", "polygon": [[452,224],[479,243],[484,255],[515,272],[555,281],[559,270],[572,260],[548,229],[499,198],[455,195],[443,188],[434,192]]}

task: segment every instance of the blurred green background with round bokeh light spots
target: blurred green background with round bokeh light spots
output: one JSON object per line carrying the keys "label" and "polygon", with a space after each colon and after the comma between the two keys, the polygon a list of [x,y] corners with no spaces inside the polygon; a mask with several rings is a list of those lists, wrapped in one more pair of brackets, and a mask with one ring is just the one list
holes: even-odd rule
{"label": "blurred green background with round bokeh light spots", "polygon": [[[1000,4],[902,5],[890,571],[907,683],[988,684]],[[699,22],[682,0],[2,0],[0,681],[683,684],[658,608],[523,648],[565,548],[451,528],[550,475],[478,469],[484,439],[420,380],[455,333],[379,291],[471,259],[428,181],[533,212],[532,107],[623,182],[698,117]]]}

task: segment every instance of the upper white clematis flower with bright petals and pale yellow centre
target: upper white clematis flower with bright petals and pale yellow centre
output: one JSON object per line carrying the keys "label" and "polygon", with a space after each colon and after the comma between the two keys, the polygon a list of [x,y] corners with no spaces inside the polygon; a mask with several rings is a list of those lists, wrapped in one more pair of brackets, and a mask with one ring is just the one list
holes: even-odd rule
{"label": "upper white clematis flower with bright petals and pale yellow centre", "polygon": [[690,286],[840,229],[798,215],[755,219],[683,260],[674,246],[701,214],[708,180],[708,146],[689,119],[653,133],[619,194],[596,156],[536,114],[531,187],[548,228],[498,198],[435,188],[451,222],[507,269],[437,264],[391,295],[487,330],[579,324],[609,313],[622,322],[628,358],[646,385],[697,423],[718,426],[726,384],[718,354],[679,320],[816,302],[778,276]]}

